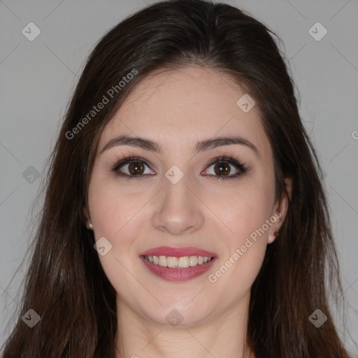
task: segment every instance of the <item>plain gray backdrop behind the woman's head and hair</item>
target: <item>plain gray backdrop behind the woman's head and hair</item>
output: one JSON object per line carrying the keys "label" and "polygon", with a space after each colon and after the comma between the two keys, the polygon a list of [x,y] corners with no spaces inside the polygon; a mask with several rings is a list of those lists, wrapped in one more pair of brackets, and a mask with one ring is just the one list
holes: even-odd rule
{"label": "plain gray backdrop behind the woman's head and hair", "polygon": [[[0,1],[0,345],[18,305],[24,266],[10,280],[28,249],[39,206],[34,213],[31,208],[85,59],[110,27],[153,2]],[[358,1],[227,3],[248,10],[285,43],[282,50],[301,96],[301,116],[326,173],[343,288],[350,303],[345,323],[351,336],[358,337]],[[34,41],[22,34],[29,22],[41,30]],[[316,22],[328,31],[320,41],[309,33]],[[313,31],[322,34],[320,28]],[[336,320],[343,334],[340,312]],[[352,348],[352,338],[343,338]]]}

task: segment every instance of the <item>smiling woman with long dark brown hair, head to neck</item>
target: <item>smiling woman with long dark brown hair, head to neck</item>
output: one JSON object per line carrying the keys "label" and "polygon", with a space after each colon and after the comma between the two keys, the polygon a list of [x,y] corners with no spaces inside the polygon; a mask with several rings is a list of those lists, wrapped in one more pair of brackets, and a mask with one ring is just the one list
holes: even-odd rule
{"label": "smiling woman with long dark brown hair, head to neck", "polygon": [[322,173],[271,34],[163,1],[96,45],[3,357],[348,357]]}

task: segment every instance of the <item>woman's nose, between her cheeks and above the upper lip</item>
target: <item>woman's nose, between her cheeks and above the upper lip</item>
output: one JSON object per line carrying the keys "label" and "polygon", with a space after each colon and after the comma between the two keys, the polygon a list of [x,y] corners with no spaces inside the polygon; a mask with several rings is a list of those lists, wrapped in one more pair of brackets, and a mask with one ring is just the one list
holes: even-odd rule
{"label": "woman's nose, between her cheeks and above the upper lip", "polygon": [[[199,192],[187,176],[173,184],[164,178],[164,187],[158,193],[152,224],[160,231],[180,236],[199,230],[203,226],[203,203]],[[194,194],[195,193],[195,194]]]}

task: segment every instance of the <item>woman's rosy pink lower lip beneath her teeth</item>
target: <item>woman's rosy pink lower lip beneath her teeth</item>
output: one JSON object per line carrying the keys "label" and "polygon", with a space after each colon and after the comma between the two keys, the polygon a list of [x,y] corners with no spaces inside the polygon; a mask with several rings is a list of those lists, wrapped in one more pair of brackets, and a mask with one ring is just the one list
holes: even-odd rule
{"label": "woman's rosy pink lower lip beneath her teeth", "polygon": [[213,257],[209,262],[205,264],[189,266],[187,268],[172,268],[172,267],[164,267],[159,264],[152,264],[152,262],[147,261],[143,256],[141,256],[141,260],[144,262],[145,266],[149,269],[151,273],[159,276],[166,281],[187,281],[196,278],[203,273],[206,273],[213,263],[215,262],[216,257]]}

